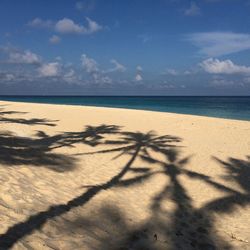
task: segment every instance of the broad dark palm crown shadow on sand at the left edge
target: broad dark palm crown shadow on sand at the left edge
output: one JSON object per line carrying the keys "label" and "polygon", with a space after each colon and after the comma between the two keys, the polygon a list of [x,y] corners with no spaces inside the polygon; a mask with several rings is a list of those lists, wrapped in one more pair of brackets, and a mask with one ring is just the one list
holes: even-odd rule
{"label": "broad dark palm crown shadow on sand at the left edge", "polygon": [[39,137],[20,137],[9,131],[0,133],[0,164],[4,166],[36,166],[64,172],[75,169],[76,162],[75,157],[51,152]]}

